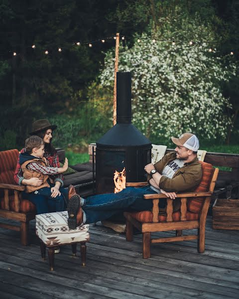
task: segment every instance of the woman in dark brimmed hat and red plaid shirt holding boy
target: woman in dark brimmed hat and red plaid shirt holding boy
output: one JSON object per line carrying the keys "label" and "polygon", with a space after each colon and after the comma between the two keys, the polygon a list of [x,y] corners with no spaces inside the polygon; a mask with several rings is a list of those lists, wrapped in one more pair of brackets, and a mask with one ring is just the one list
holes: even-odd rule
{"label": "woman in dark brimmed hat and red plaid shirt holding boy", "polygon": [[[45,153],[44,157],[47,159],[50,167],[60,167],[59,157],[56,149],[52,146],[52,131],[57,128],[55,125],[51,125],[48,120],[38,120],[35,121],[32,125],[32,132],[29,135],[39,136],[45,144]],[[26,150],[23,148],[20,153],[24,153]],[[22,175],[21,166],[19,164],[19,157],[16,164],[16,170],[14,174],[14,180],[19,185],[31,185],[38,187],[42,184],[42,180],[37,177],[32,177],[30,179],[25,179]],[[63,194],[65,199],[68,198],[68,191],[63,188],[63,174],[54,175],[54,185],[51,187],[51,197],[52,200],[49,200],[44,195],[31,194],[23,192],[22,196],[24,199],[28,199],[36,206],[37,214],[55,212],[57,201],[54,200],[58,195]],[[58,200],[58,199],[57,199]],[[62,200],[62,199],[61,199]],[[63,210],[66,209],[66,204],[64,205]]]}

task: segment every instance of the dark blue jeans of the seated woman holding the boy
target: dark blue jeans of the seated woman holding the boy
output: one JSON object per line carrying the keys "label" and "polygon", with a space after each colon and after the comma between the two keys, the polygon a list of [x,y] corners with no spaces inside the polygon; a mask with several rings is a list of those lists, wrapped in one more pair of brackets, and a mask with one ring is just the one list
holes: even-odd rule
{"label": "dark blue jeans of the seated woman holding the boy", "polygon": [[54,186],[54,184],[50,184],[50,187],[36,190],[37,193],[23,192],[22,197],[31,201],[36,206],[37,214],[64,211],[66,210],[66,200],[68,200],[68,190],[60,187],[59,191],[61,195],[51,197],[51,187]]}

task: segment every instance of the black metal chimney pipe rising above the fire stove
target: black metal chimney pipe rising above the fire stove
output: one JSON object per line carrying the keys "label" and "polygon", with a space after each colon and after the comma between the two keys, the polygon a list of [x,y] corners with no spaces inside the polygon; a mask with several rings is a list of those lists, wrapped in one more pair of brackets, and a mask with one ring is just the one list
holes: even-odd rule
{"label": "black metal chimney pipe rising above the fire stove", "polygon": [[117,72],[117,124],[131,124],[131,73]]}

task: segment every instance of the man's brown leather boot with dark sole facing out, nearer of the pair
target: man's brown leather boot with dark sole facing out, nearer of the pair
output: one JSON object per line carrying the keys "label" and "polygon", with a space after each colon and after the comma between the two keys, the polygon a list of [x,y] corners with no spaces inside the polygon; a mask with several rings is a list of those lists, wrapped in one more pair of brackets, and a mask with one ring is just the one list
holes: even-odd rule
{"label": "man's brown leather boot with dark sole facing out, nearer of the pair", "polygon": [[73,195],[67,206],[68,211],[68,227],[69,229],[76,229],[77,226],[83,222],[83,211],[80,205],[81,198],[78,194]]}

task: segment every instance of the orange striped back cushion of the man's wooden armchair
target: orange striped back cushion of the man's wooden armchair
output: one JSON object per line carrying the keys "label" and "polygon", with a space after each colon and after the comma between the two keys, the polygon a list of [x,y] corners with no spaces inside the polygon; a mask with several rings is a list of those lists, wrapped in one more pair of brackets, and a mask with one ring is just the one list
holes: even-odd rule
{"label": "orange striped back cushion of the man's wooden armchair", "polygon": [[[203,175],[202,175],[201,182],[195,191],[196,192],[205,192],[205,191],[208,191],[214,168],[213,168],[212,164],[202,162],[202,161],[199,161],[199,162],[202,164]],[[187,210],[189,212],[199,213],[201,210],[203,201],[204,201],[204,197],[195,197],[195,198],[188,199]]]}

